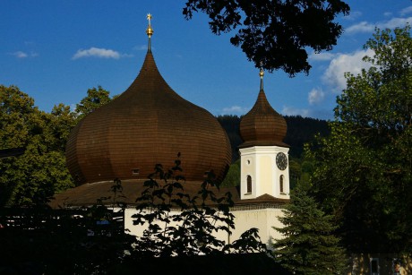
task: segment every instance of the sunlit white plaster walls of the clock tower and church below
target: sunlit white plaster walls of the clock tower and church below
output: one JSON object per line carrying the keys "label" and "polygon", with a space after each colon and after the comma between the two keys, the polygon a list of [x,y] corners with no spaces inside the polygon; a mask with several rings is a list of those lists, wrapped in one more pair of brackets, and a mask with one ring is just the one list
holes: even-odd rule
{"label": "sunlit white plaster walls of the clock tower and church below", "polygon": [[[289,199],[289,168],[281,170],[276,164],[276,156],[279,152],[284,153],[288,159],[288,148],[280,146],[253,146],[240,149],[241,159],[241,200],[256,199],[263,194],[278,199]],[[252,192],[247,192],[247,177],[252,178]],[[280,188],[280,177],[283,177],[283,187]],[[133,214],[135,209],[126,209],[124,212],[124,229],[130,234],[142,236],[147,225],[133,225]],[[225,231],[219,231],[214,235],[227,244],[237,240],[246,230],[251,228],[259,229],[259,236],[262,243],[270,247],[273,239],[282,238],[273,227],[281,228],[282,223],[279,217],[283,216],[282,207],[275,204],[262,205],[239,205],[232,209],[235,216],[235,229],[229,235]],[[178,214],[178,211],[171,211],[169,215]],[[160,225],[162,226],[162,225]],[[163,225],[165,226],[165,225]],[[167,226],[178,226],[168,224]]]}

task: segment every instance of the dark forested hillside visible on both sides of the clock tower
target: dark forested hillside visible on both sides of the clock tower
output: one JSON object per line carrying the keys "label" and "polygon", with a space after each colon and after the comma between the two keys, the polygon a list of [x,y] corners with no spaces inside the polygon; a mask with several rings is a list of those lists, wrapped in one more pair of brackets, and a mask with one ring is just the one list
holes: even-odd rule
{"label": "dark forested hillside visible on both sides of the clock tower", "polygon": [[[327,121],[311,117],[302,116],[284,116],[288,124],[288,133],[284,140],[290,145],[289,154],[293,158],[300,158],[306,142],[313,141],[313,137],[320,133],[326,136],[330,133]],[[242,116],[218,116],[220,125],[226,130],[230,143],[232,145],[232,160],[239,159],[239,146],[243,141],[239,133],[239,125]]]}

